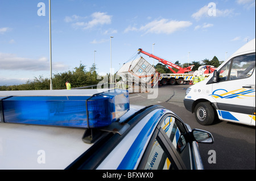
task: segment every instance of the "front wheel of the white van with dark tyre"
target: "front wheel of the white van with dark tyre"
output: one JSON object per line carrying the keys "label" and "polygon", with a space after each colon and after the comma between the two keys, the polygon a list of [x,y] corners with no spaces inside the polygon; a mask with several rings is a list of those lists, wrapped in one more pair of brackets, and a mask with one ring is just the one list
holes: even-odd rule
{"label": "front wheel of the white van with dark tyre", "polygon": [[214,110],[209,102],[198,103],[195,107],[195,117],[199,124],[210,125],[214,121]]}

